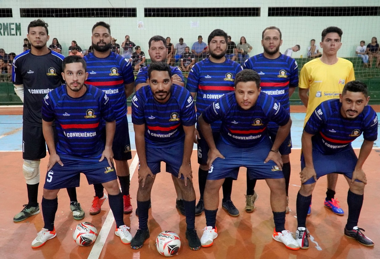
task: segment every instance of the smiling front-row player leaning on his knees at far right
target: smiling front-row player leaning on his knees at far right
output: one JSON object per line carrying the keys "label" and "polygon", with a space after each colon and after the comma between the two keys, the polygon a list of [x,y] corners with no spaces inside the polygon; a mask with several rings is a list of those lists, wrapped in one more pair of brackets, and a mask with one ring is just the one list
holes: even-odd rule
{"label": "smiling front-row player leaning on his knees at far right", "polygon": [[[323,54],[325,55],[325,54]],[[296,238],[302,249],[309,248],[306,216],[315,183],[321,176],[339,172],[347,180],[348,219],[344,234],[365,246],[374,246],[358,227],[367,184],[363,164],[377,139],[377,116],[369,101],[368,89],[360,81],[345,84],[339,99],[322,102],[310,115],[302,133],[301,189],[297,195]],[[359,158],[351,142],[363,134]]]}

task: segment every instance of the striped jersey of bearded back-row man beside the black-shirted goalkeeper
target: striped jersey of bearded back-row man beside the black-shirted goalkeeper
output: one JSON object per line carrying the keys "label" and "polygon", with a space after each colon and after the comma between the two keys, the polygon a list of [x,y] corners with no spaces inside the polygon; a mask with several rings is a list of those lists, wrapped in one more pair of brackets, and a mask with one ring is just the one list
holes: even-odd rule
{"label": "striped jersey of bearded back-row man beside the black-shirted goalkeeper", "polygon": [[86,84],[98,87],[107,94],[115,111],[116,122],[127,116],[127,96],[124,84],[133,83],[135,76],[131,63],[124,57],[110,52],[108,57],[98,58],[90,52],[84,58],[89,76]]}

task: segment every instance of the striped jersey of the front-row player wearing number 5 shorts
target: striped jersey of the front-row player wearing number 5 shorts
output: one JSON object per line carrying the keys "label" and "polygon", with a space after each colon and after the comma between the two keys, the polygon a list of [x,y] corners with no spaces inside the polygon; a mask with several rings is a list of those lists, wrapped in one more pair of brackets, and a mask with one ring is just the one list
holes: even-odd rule
{"label": "striped jersey of the front-row player wearing number 5 shorts", "polygon": [[102,121],[116,119],[108,96],[90,85],[79,98],[70,97],[66,85],[51,91],[43,100],[42,118],[55,120],[60,157],[90,161],[98,161],[105,148]]}

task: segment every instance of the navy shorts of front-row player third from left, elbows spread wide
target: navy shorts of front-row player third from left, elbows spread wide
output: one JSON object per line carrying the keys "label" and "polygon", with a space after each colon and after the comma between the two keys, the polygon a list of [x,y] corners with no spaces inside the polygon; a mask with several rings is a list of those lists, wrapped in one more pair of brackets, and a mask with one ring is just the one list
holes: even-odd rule
{"label": "navy shorts of front-row player third from left, elbows spread wide", "polygon": [[228,145],[223,140],[217,143],[217,149],[225,159],[217,158],[212,163],[207,180],[219,180],[224,178],[237,179],[240,167],[247,168],[250,179],[279,179],[284,178],[282,170],[270,160],[264,164],[272,148],[269,138],[263,143],[252,148],[238,148]]}

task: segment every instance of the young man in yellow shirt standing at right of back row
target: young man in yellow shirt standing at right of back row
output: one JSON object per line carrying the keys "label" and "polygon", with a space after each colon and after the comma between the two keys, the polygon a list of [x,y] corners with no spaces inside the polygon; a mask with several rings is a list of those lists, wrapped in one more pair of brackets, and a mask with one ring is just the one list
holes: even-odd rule
{"label": "young man in yellow shirt standing at right of back row", "polygon": [[[331,26],[324,29],[320,43],[320,47],[323,49],[322,57],[313,59],[302,67],[298,88],[299,97],[306,106],[304,126],[321,102],[339,98],[339,93],[343,91],[345,84],[355,80],[352,63],[347,59],[337,57],[337,52],[342,46],[340,41],[342,34],[342,30],[338,27]],[[344,215],[339,202],[334,199],[337,179],[337,173],[327,176],[325,206],[337,215]],[[311,209],[309,208],[308,215],[310,213]]]}

